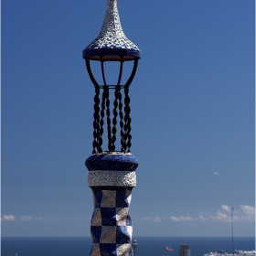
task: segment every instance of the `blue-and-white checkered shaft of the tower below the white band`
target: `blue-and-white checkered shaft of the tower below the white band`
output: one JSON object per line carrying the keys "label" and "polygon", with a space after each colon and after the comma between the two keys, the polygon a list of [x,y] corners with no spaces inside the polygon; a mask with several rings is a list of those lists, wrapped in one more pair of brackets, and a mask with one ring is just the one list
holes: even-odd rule
{"label": "blue-and-white checkered shaft of the tower below the white band", "polygon": [[91,256],[133,256],[133,226],[129,214],[132,187],[119,190],[91,189],[94,201]]}

